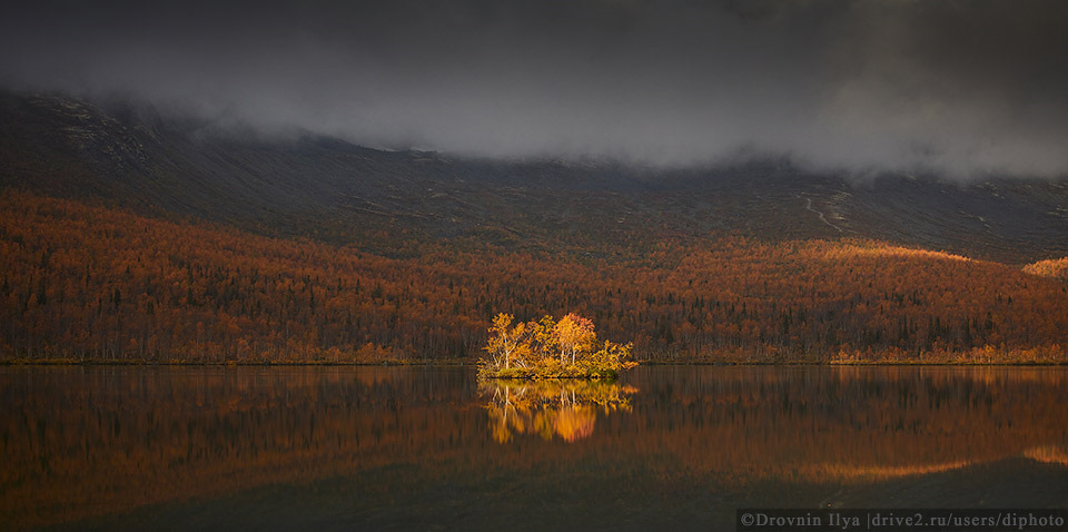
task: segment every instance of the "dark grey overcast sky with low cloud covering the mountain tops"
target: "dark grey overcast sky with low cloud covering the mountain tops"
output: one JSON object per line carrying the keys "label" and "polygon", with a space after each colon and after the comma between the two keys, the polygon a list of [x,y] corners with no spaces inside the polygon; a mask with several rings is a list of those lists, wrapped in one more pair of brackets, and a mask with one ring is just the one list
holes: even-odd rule
{"label": "dark grey overcast sky with low cloud covering the mountain tops", "polygon": [[[14,2],[6,2],[11,4]],[[479,156],[1068,175],[1068,1],[0,8],[0,81]]]}

